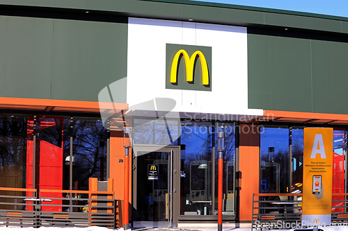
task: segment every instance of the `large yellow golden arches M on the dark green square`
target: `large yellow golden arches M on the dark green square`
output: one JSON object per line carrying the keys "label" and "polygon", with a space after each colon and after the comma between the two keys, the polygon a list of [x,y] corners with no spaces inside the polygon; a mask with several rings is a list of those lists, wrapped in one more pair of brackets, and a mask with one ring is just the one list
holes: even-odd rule
{"label": "large yellow golden arches M on the dark green square", "polygon": [[186,66],[186,80],[187,82],[193,81],[193,69],[195,65],[196,56],[200,58],[200,66],[202,67],[202,83],[203,85],[209,85],[209,72],[207,67],[207,61],[201,51],[196,51],[189,57],[189,54],[181,49],[177,51],[173,58],[172,67],[171,67],[171,83],[177,82],[177,65],[179,65],[180,55],[184,56],[185,66]]}

